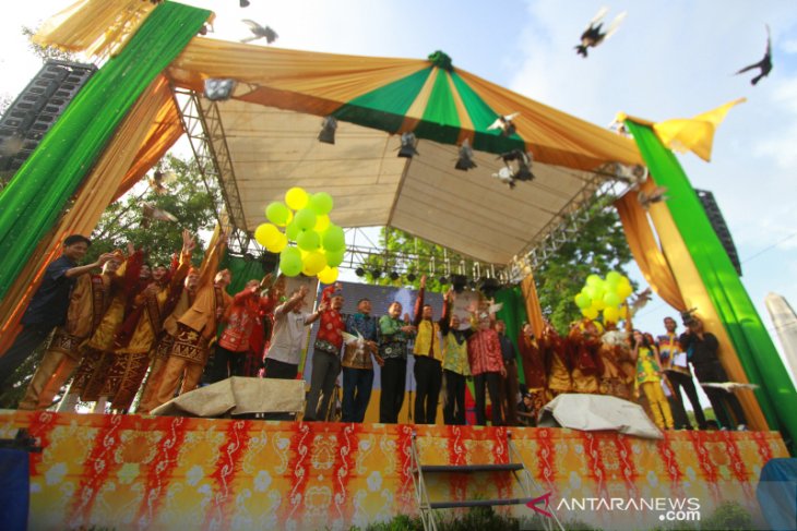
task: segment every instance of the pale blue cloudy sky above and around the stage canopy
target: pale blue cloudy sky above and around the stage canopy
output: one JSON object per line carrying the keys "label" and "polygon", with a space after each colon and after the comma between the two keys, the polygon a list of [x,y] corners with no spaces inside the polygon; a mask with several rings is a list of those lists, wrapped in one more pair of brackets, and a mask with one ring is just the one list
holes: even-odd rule
{"label": "pale blue cloudy sky above and around the stage canopy", "polygon": [[[694,188],[714,193],[742,262],[742,282],[781,349],[763,300],[775,292],[797,304],[794,0],[250,2],[246,9],[238,0],[185,3],[216,13],[216,38],[243,38],[241,19],[251,19],[273,27],[279,38],[272,46],[282,48],[405,58],[442,50],[456,68],[600,126],[619,111],[662,121],[746,97],[717,130],[710,164],[692,154],[678,158]],[[0,95],[15,96],[40,67],[20,28],[36,27],[69,4],[36,0],[3,14]],[[607,22],[623,11],[627,17],[583,59],[573,46],[603,5],[609,8]],[[733,74],[763,57],[765,24],[774,69],[751,86],[754,74]],[[632,278],[644,286],[639,271]],[[654,298],[634,324],[658,334],[671,314]]]}

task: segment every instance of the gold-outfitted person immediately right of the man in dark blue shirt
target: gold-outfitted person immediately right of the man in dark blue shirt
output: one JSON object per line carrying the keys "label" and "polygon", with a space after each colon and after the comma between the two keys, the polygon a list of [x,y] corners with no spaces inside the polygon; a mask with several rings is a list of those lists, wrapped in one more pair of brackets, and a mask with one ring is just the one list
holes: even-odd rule
{"label": "gold-outfitted person immediately right of the man in dark blue shirt", "polygon": [[119,252],[103,273],[78,277],[70,297],[67,322],[56,328],[50,346],[27,386],[19,409],[47,409],[81,360],[80,346],[99,325],[110,304],[110,285],[122,263]]}

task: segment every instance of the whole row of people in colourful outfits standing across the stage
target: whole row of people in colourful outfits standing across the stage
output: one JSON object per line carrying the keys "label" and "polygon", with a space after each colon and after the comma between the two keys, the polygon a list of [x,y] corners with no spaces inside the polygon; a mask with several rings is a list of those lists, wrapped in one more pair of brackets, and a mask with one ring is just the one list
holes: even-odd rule
{"label": "whole row of people in colourful outfits standing across the stage", "polygon": [[[535,425],[548,401],[581,393],[643,398],[661,429],[692,427],[682,388],[698,427],[705,430],[710,425],[689,365],[701,384],[727,381],[716,337],[692,315],[681,335],[676,321],[665,318],[666,334],[658,338],[612,324],[603,329],[586,318],[566,336],[548,323],[538,331],[525,323],[515,343],[485,298],[467,309],[467,316],[457,316],[457,294],[449,290],[436,318],[425,303],[425,276],[412,317],[398,302],[377,317],[368,299],[346,315],[340,283],[325,287],[310,312],[314,301],[308,300],[307,286],[286,293],[285,278],[271,275],[249,280],[230,295],[229,270],[217,270],[224,236],[201,268],[191,266],[193,238],[183,232],[182,240],[171,264],[147,264],[144,252],[129,245],[127,254],[103,254],[82,266],[91,241],[83,236],[64,240],[61,256],[48,265],[28,304],[22,331],[0,357],[0,385],[8,385],[22,362],[51,338],[20,409],[51,407],[70,376],[59,411],[74,410],[80,400],[95,402],[95,411],[128,412],[138,396],[135,411],[150,413],[197,388],[203,374],[205,382],[229,376],[295,379],[307,327],[316,322],[305,421],[332,418],[331,398],[342,373],[340,420],[362,422],[376,364],[381,367],[379,421],[398,422],[411,353],[415,401],[409,408],[418,424],[437,422],[441,397],[443,422],[466,424],[472,379],[478,425],[488,419],[492,425]],[[731,393],[716,387],[705,387],[705,393],[719,426],[744,429],[745,415]]]}

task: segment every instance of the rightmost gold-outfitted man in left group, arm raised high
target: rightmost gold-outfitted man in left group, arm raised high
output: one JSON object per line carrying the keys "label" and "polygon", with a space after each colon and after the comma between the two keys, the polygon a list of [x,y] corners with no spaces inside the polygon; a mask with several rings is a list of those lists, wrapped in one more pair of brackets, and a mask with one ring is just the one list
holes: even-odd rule
{"label": "rightmost gold-outfitted man in left group, arm raised high", "polygon": [[214,263],[205,264],[203,280],[200,281],[197,299],[182,316],[177,319],[177,334],[171,352],[163,370],[163,377],[155,391],[157,406],[171,399],[177,384],[182,376],[180,395],[197,388],[202,378],[202,371],[207,363],[210,342],[216,336],[216,327],[225,310],[233,303],[226,288],[231,280],[228,269],[222,269],[209,281],[210,273],[215,271],[218,255],[226,242],[222,236],[212,251]]}

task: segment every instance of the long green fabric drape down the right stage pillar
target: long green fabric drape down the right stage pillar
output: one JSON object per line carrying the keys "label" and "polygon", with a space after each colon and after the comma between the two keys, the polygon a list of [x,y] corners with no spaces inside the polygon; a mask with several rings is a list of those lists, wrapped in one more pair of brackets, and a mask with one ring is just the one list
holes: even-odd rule
{"label": "long green fabric drape down the right stage pillar", "polygon": [[756,307],[734,269],[705,215],[694,189],[675,155],[650,126],[627,121],[657,185],[666,186],[666,205],[723,321],[747,377],[761,387],[756,391],[771,426],[784,433],[787,444],[797,435],[797,393],[761,322]]}

